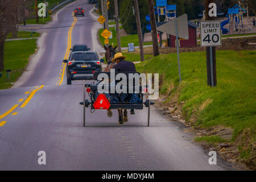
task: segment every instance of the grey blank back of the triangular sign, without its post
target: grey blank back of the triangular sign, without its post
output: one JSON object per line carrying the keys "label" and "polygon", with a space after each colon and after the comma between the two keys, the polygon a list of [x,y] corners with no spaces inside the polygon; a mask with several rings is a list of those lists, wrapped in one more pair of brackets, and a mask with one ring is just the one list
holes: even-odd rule
{"label": "grey blank back of the triangular sign, without its post", "polygon": [[175,20],[177,21],[178,37],[188,40],[188,16],[183,14],[178,18],[171,20],[170,22],[162,24],[156,28],[160,32],[166,32],[167,34],[176,36]]}

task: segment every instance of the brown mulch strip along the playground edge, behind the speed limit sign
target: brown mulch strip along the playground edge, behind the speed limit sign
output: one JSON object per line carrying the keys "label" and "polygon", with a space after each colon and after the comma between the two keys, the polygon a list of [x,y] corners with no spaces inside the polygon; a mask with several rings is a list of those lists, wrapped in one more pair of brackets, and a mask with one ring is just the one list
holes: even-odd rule
{"label": "brown mulch strip along the playground edge, behind the speed limit sign", "polygon": [[[234,51],[243,51],[243,50],[255,50],[256,45],[248,44],[248,43],[256,43],[256,36],[251,38],[237,38],[237,39],[224,39],[222,40],[222,46],[216,47],[218,51],[224,50],[234,50]],[[180,48],[180,52],[196,52],[196,51],[205,51],[205,47],[201,47],[197,45],[196,47],[185,47]],[[163,47],[159,49],[160,54],[164,53],[176,53],[176,48],[171,47]],[[151,55],[153,54],[152,47],[144,48],[144,53]]]}

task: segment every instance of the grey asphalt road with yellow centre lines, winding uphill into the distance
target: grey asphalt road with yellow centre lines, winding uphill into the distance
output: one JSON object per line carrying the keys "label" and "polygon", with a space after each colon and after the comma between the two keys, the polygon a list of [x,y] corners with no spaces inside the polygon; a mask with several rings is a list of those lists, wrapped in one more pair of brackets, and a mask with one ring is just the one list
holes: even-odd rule
{"label": "grey asphalt road with yellow centre lines, winding uphill into the distance", "polygon": [[[96,20],[89,13],[93,5],[75,1],[41,30],[40,49],[17,88],[0,90],[0,169],[232,169],[219,158],[217,165],[210,165],[208,154],[183,133],[183,126],[154,107],[150,127],[146,127],[147,109],[129,115],[125,125],[118,125],[116,110],[108,118],[105,110],[92,114],[87,109],[87,127],[82,127],[82,81],[66,85],[64,76],[60,85],[68,32],[74,22],[72,10],[78,5],[85,9],[85,16],[77,17],[72,44],[93,47]],[[46,152],[46,165],[38,164],[39,151]]]}

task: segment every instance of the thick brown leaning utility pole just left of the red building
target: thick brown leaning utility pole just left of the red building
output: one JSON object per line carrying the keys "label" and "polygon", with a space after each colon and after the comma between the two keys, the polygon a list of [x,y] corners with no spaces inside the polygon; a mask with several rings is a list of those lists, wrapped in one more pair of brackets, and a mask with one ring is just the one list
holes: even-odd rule
{"label": "thick brown leaning utility pole just left of the red building", "polygon": [[159,48],[158,48],[158,36],[156,32],[156,23],[155,23],[154,0],[148,0],[148,10],[150,14],[150,24],[151,24],[151,31],[152,31],[151,34],[152,34],[154,56],[158,56]]}

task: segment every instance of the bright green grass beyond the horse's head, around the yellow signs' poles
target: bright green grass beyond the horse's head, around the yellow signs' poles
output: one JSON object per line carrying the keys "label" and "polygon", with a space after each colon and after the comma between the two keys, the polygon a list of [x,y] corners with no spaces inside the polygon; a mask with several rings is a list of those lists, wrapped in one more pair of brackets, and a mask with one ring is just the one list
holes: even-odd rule
{"label": "bright green grass beyond the horse's head, around the yellow signs' poles", "polygon": [[[101,36],[103,29],[101,28],[98,31],[98,36],[100,38],[100,42],[102,45],[104,45],[104,37]],[[109,44],[114,46],[117,45],[117,32],[115,32],[115,27],[109,27],[109,31],[112,31],[113,33],[113,39],[109,39]],[[139,40],[138,40],[138,34],[133,34],[133,35],[127,35],[127,36],[122,36],[121,37],[121,47],[128,47],[128,43],[134,43],[134,46],[139,46]],[[146,42],[143,43],[143,45],[151,45],[152,42]]]}

